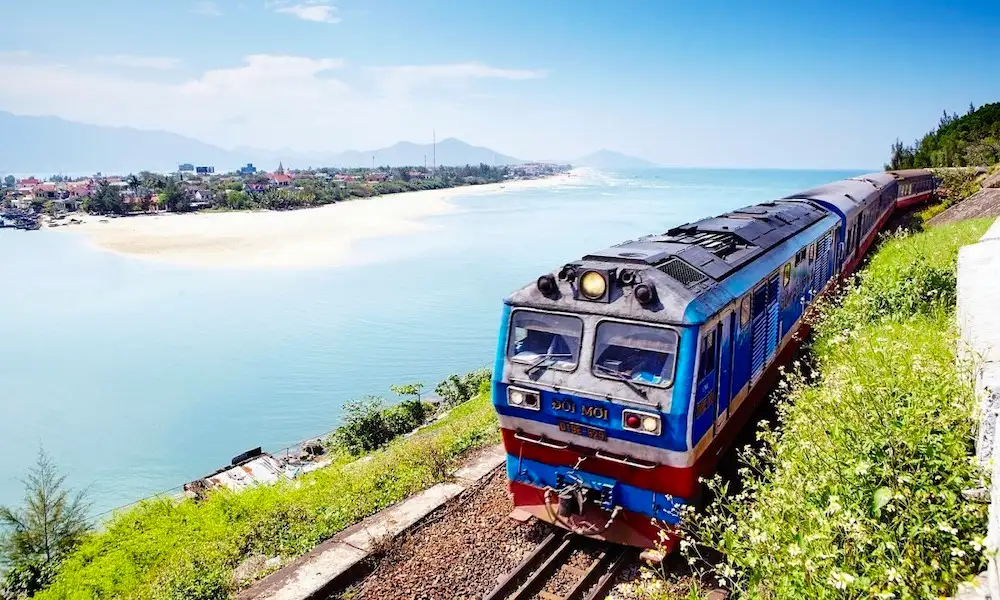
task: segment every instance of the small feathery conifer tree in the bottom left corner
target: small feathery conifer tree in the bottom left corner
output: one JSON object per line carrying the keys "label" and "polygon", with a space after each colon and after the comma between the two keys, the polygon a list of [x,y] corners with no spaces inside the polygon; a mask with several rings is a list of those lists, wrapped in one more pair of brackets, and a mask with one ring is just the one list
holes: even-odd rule
{"label": "small feathery conifer tree in the bottom left corner", "polygon": [[0,507],[0,560],[8,594],[31,596],[55,575],[59,562],[89,529],[85,492],[71,495],[66,477],[43,449],[24,483],[24,505]]}

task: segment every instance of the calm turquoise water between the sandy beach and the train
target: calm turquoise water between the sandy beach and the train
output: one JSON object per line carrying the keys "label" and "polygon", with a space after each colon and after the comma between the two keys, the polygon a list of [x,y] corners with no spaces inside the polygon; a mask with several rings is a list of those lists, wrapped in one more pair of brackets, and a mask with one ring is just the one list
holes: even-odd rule
{"label": "calm turquoise water between the sandy beach and the train", "polygon": [[39,445],[101,512],[317,435],[352,398],[490,364],[501,299],[545,271],[857,173],[591,173],[458,198],[336,269],[180,268],[0,230],[0,504]]}

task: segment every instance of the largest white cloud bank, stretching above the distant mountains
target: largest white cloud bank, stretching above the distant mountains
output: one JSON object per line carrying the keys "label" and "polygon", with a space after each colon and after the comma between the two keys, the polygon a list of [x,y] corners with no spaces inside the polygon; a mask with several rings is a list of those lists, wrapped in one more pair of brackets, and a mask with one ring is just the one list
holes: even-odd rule
{"label": "largest white cloud bank, stretching above the distant mountains", "polygon": [[[376,72],[405,80],[407,85],[540,76],[535,71],[478,63],[383,67]],[[462,106],[462,96],[436,93],[434,88],[415,98],[405,90],[394,91],[359,76],[364,74],[371,72],[338,58],[252,55],[239,65],[208,70],[197,77],[179,79],[164,71],[154,81],[27,57],[0,60],[0,110],[97,125],[163,129],[228,147],[301,151],[423,140],[434,127],[439,134],[451,132],[445,135],[484,143],[489,136],[483,131],[506,127],[497,112],[483,118],[481,111],[487,110],[483,102]]]}

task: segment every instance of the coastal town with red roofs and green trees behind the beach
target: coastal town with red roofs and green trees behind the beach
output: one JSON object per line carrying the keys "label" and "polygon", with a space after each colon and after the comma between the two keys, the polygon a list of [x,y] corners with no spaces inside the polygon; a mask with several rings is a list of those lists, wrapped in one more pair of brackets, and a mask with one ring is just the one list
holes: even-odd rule
{"label": "coastal town with red roofs and green trees behind the beach", "polygon": [[247,164],[216,173],[212,166],[178,165],[173,173],[0,178],[0,227],[38,229],[78,222],[76,215],[129,216],[200,210],[287,210],[356,198],[487,183],[538,179],[565,173],[568,165],[466,165],[285,169]]}

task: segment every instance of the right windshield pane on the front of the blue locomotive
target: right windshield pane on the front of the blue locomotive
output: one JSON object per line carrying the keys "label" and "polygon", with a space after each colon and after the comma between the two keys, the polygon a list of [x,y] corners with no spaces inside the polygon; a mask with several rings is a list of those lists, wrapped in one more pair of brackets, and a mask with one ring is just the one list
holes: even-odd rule
{"label": "right windshield pane on the front of the blue locomotive", "polygon": [[594,375],[666,387],[674,378],[677,332],[602,321],[594,345]]}

